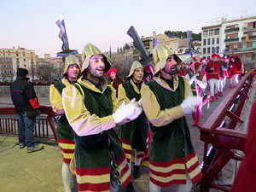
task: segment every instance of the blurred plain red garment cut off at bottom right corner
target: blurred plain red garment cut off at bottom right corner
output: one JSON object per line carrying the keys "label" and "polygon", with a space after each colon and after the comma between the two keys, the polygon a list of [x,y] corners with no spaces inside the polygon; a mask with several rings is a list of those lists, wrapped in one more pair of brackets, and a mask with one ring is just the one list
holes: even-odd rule
{"label": "blurred plain red garment cut off at bottom right corner", "polygon": [[250,113],[247,139],[245,144],[245,156],[241,161],[238,172],[236,174],[235,182],[232,186],[231,192],[254,192],[256,189],[256,102],[253,103],[253,108]]}

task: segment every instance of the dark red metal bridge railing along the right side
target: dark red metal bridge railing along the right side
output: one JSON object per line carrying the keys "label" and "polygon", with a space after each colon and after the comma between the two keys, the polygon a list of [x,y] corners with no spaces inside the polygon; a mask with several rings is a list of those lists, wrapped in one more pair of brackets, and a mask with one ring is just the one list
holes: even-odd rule
{"label": "dark red metal bridge railing along the right side", "polygon": [[[247,133],[239,131],[238,128],[243,123],[242,115],[244,106],[250,92],[255,91],[252,87],[256,70],[247,73],[236,88],[230,90],[224,100],[214,110],[206,123],[201,127],[200,139],[205,143],[204,157],[202,162],[202,182],[201,191],[208,192],[210,187],[230,191],[230,188],[224,187],[218,183],[213,183],[213,179],[218,177],[218,172],[231,160],[241,160],[232,149],[244,151],[245,139]],[[216,153],[211,162],[207,165],[210,146],[214,146]]]}

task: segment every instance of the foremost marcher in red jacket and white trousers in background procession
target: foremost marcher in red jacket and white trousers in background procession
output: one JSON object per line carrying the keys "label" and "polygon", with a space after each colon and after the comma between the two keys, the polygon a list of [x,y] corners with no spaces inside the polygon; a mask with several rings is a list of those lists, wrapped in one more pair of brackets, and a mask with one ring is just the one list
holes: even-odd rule
{"label": "foremost marcher in red jacket and white trousers in background procession", "polygon": [[[214,102],[214,96],[218,100],[218,90],[219,90],[219,76],[223,78],[223,71],[220,61],[218,61],[218,55],[212,54],[212,61],[208,62],[207,68],[207,79],[211,87],[211,99],[210,102]],[[214,91],[214,88],[215,91]]]}

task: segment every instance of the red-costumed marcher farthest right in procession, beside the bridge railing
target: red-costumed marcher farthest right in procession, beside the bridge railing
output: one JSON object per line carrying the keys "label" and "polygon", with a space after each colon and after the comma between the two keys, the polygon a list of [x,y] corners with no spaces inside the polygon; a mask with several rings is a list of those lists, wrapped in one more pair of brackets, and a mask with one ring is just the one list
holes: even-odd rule
{"label": "red-costumed marcher farthest right in procession, beside the bridge railing", "polygon": [[238,55],[234,55],[230,57],[230,75],[232,74],[232,77],[230,78],[230,88],[236,86],[236,84],[239,83],[241,76],[241,60],[238,58]]}

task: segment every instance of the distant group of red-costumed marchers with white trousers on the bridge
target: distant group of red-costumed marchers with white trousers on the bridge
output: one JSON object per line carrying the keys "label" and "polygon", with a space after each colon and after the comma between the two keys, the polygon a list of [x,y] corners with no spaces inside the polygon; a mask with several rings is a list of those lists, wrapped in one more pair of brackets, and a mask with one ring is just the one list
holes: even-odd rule
{"label": "distant group of red-costumed marchers with white trousers on the bridge", "polygon": [[214,102],[215,99],[218,100],[218,96],[223,96],[226,79],[230,79],[230,89],[232,89],[239,83],[242,73],[244,67],[238,55],[225,58],[214,53],[212,59],[208,60],[203,57],[197,61],[193,57],[189,67],[186,67],[184,62],[181,64],[179,75],[189,79],[193,96],[200,99],[200,105],[195,113],[192,113],[194,119],[192,126],[201,128],[201,108],[204,99],[207,98],[206,88],[210,90],[209,102]]}

